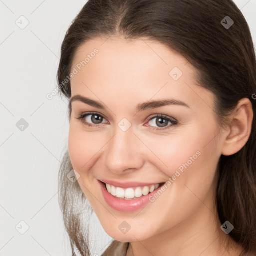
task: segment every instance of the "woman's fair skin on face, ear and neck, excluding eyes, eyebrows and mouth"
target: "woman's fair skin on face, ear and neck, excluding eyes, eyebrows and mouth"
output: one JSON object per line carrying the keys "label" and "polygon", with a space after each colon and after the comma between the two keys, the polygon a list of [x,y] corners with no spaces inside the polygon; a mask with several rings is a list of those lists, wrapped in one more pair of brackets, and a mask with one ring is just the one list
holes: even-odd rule
{"label": "woman's fair skin on face, ear and neck, excluding eyes, eyebrows and mouth", "polygon": [[[226,250],[221,241],[214,204],[216,167],[221,154],[239,151],[249,138],[253,118],[249,99],[221,129],[215,118],[214,95],[195,83],[195,69],[187,60],[159,42],[126,40],[120,36],[94,38],[82,44],[73,67],[97,48],[99,52],[71,79],[72,96],[80,94],[100,101],[106,109],[72,102],[68,150],[78,183],[106,233],[115,240],[130,242],[127,256],[138,255],[233,255],[241,247]],[[173,67],[182,71],[174,80]],[[72,68],[73,68],[72,67]],[[173,98],[185,102],[136,112],[138,103]],[[79,114],[95,111],[104,119],[97,124],[91,116],[88,127]],[[154,118],[165,114],[178,121],[164,130]],[[118,123],[126,118],[131,127]],[[151,121],[149,121],[151,119]],[[175,174],[182,163],[200,151],[200,156],[152,203],[132,212],[112,209],[104,200],[97,179],[160,183]],[[78,177],[78,176],[77,176]],[[126,221],[127,233],[118,226]]]}

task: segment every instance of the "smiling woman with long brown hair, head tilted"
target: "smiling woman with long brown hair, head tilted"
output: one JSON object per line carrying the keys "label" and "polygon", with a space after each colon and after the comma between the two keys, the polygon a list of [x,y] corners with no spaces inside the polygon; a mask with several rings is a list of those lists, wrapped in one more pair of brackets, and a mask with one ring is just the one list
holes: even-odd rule
{"label": "smiling woman with long brown hair, head tilted", "polygon": [[255,70],[231,0],[84,5],[57,75],[72,255],[89,255],[90,210],[114,239],[103,256],[256,253]]}

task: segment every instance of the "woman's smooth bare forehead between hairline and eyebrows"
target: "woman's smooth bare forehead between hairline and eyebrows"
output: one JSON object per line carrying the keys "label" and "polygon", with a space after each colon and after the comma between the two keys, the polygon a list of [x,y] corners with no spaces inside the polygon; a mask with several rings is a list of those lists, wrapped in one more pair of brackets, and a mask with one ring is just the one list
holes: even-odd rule
{"label": "woman's smooth bare forehead between hairline and eyebrows", "polygon": [[209,94],[195,85],[196,69],[182,55],[146,38],[91,39],[76,51],[71,70],[74,68],[72,96],[111,96],[120,101],[132,97],[137,102],[173,97],[198,105],[198,97]]}

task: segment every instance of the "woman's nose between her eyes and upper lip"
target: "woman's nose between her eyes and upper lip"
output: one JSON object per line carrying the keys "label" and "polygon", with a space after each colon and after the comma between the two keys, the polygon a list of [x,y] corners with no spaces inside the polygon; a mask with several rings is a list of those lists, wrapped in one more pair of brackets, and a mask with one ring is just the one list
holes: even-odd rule
{"label": "woman's nose between her eyes and upper lip", "polygon": [[143,149],[145,151],[142,142],[133,133],[132,126],[126,131],[117,126],[114,136],[105,147],[104,164],[116,174],[140,169],[145,161]]}

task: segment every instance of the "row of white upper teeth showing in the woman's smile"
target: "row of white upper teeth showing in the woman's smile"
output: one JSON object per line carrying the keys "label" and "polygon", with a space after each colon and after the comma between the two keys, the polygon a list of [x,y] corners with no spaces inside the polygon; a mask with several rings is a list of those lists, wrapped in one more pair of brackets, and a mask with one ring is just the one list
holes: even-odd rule
{"label": "row of white upper teeth showing in the woman's smile", "polygon": [[158,187],[159,184],[155,184],[150,186],[139,186],[136,188],[129,187],[123,189],[121,187],[115,187],[113,185],[106,184],[106,189],[111,195],[127,200],[135,197],[141,197],[142,195],[147,195],[153,192]]}

